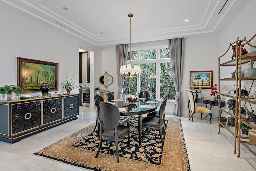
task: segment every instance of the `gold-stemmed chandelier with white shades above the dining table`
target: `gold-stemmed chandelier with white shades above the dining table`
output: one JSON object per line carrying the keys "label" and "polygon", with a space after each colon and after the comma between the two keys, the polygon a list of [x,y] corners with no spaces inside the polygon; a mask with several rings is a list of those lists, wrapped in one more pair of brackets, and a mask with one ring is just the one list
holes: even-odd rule
{"label": "gold-stemmed chandelier with white shades above the dining table", "polygon": [[[131,47],[132,47],[132,17],[133,17],[133,14],[130,13],[128,14],[128,17],[130,17],[130,63],[131,63],[131,60],[132,60],[132,55],[131,55]],[[120,68],[120,74],[122,74],[122,78],[135,78],[135,77],[138,77],[139,74],[141,73],[141,70],[140,70],[140,66],[137,66],[137,65],[134,65],[133,66],[133,69],[132,69],[132,65],[131,64],[127,64],[126,65],[123,65],[121,66]],[[138,76],[137,76],[138,74]],[[134,76],[135,75],[135,76]]]}

